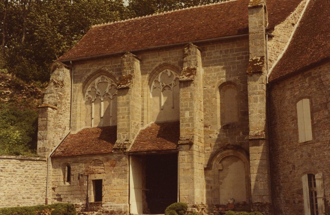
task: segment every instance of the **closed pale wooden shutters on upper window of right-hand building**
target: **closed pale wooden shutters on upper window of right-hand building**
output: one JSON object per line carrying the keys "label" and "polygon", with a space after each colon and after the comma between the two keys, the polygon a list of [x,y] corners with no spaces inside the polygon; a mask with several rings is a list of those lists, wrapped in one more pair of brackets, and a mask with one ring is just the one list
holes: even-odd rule
{"label": "closed pale wooden shutters on upper window of right-hand building", "polygon": [[297,103],[299,142],[313,140],[310,100],[302,99]]}

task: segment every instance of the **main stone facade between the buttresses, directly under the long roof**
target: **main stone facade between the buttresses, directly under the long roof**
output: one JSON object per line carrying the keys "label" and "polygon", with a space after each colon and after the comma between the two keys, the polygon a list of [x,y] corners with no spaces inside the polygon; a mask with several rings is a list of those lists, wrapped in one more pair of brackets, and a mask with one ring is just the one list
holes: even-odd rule
{"label": "main stone facade between the buttresses, directly under the long roof", "polygon": [[[195,45],[201,49],[201,67],[203,69],[204,120],[201,121],[201,124],[204,127],[203,147],[205,156],[202,156],[203,161],[201,163],[204,164],[204,167],[207,167],[212,165],[213,158],[219,151],[226,148],[226,145],[237,145],[248,154],[248,84],[246,68],[249,59],[249,42],[248,37],[244,37]],[[155,73],[163,69],[171,69],[181,75],[183,46],[136,52],[134,54],[141,59],[141,121],[142,126],[146,126],[151,123],[152,119],[149,80],[152,79]],[[122,75],[122,60],[120,58],[121,56],[111,56],[74,63],[73,132],[85,126],[84,86],[91,77],[95,77],[98,73],[108,73],[118,82]],[[226,83],[234,83],[238,89],[239,121],[232,127],[221,128],[219,86]],[[200,151],[199,149],[194,150],[197,154]],[[203,151],[200,153],[203,153]],[[189,158],[182,157],[182,159]],[[211,171],[207,170],[205,180],[207,190],[211,192],[212,183],[215,183]],[[202,181],[198,183],[204,184]],[[203,196],[204,194],[200,193],[200,195]],[[206,202],[198,200],[196,203],[213,204],[212,194],[206,195],[206,198]]]}

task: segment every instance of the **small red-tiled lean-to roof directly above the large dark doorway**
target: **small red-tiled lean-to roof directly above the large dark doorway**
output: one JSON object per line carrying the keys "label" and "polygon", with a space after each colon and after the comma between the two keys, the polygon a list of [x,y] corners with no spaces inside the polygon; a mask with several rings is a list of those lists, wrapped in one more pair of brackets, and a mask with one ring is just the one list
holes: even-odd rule
{"label": "small red-tiled lean-to roof directly above the large dark doorway", "polygon": [[141,130],[130,152],[176,149],[180,138],[180,122],[151,124]]}

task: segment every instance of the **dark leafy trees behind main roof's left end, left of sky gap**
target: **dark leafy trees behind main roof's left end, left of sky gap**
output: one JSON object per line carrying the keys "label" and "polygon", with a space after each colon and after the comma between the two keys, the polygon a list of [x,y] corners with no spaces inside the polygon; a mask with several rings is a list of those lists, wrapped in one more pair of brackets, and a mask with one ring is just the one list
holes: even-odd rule
{"label": "dark leafy trees behind main roof's left end, left of sky gap", "polygon": [[132,16],[122,0],[2,0],[2,58],[26,81],[49,80],[49,66],[93,24]]}

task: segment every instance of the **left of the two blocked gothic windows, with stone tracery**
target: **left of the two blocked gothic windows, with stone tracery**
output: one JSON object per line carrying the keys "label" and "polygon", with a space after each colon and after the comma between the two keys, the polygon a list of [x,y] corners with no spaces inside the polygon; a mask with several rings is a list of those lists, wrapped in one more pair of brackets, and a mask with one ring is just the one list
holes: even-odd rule
{"label": "left of the two blocked gothic windows, with stone tracery", "polygon": [[[114,125],[116,121],[116,83],[107,76],[93,80],[84,95],[91,127]],[[89,121],[89,120],[88,120]]]}

